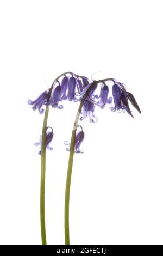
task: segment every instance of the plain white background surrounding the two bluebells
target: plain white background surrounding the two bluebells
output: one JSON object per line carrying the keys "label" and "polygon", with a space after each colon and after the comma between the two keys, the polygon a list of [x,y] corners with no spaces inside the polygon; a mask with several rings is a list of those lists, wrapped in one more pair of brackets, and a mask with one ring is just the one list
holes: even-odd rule
{"label": "plain white background surrounding the two bluebells", "polygon": [[[70,198],[72,245],[162,245],[162,1],[1,1],[0,243],[40,245],[40,156],[33,146],[43,115],[36,99],[62,72],[114,77],[142,114],[96,109],[83,123]],[[64,245],[64,194],[78,104],[52,109],[47,152],[48,245]]]}

